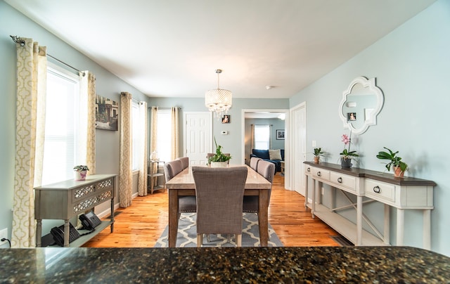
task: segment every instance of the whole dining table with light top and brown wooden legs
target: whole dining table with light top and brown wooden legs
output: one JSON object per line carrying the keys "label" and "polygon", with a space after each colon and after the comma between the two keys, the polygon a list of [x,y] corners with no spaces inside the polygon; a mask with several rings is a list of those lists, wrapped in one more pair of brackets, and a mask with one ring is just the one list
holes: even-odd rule
{"label": "whole dining table with light top and brown wooden legs", "polygon": [[[229,164],[227,167],[238,166],[242,165]],[[258,196],[259,243],[262,247],[266,247],[267,241],[269,240],[269,189],[272,187],[272,184],[248,165],[245,165],[245,167],[248,169],[248,174],[247,180],[245,181],[244,195]],[[187,167],[167,181],[166,188],[169,193],[169,247],[175,247],[179,219],[178,200],[182,196],[195,196],[195,182],[192,175],[192,166]]]}

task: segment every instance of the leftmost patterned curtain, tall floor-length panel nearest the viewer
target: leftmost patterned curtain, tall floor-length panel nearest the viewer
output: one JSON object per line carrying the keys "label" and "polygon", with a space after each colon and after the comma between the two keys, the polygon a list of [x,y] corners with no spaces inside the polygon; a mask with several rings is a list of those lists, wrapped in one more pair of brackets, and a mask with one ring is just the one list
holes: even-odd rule
{"label": "leftmost patterned curtain, tall floor-length panel nearest the viewer", "polygon": [[15,181],[11,247],[36,246],[34,186],[40,186],[44,157],[46,47],[23,39],[17,47]]}

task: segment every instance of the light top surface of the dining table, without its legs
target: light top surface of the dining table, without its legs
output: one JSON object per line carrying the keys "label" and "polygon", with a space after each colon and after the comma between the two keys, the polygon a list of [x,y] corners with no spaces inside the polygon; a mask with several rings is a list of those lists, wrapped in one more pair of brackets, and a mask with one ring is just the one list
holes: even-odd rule
{"label": "light top surface of the dining table, without its legs", "polygon": [[[239,165],[230,164],[229,167],[238,167]],[[207,166],[205,166],[207,167]],[[245,166],[248,169],[247,181],[245,181],[245,189],[270,189],[272,184],[264,179],[264,176],[255,172],[251,167]],[[180,172],[173,179],[167,181],[166,188],[171,189],[195,189],[194,178],[192,175],[192,168],[187,167]]]}

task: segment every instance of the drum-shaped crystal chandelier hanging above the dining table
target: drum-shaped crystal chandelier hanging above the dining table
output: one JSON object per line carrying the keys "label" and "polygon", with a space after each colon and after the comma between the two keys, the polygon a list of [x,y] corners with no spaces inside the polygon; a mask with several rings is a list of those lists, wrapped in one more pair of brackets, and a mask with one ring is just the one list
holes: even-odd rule
{"label": "drum-shaped crystal chandelier hanging above the dining table", "polygon": [[217,69],[217,89],[206,91],[205,93],[205,106],[214,112],[214,117],[221,119],[224,113],[227,113],[231,108],[232,93],[229,90],[219,88],[219,74],[222,70]]}

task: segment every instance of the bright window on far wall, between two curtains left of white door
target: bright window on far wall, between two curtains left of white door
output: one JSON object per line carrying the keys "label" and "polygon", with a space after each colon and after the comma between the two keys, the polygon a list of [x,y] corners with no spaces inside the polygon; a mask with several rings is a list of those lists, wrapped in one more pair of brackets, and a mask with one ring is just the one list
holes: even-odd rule
{"label": "bright window on far wall, between two curtains left of white door", "polygon": [[157,149],[158,157],[161,161],[168,162],[171,160],[172,148],[172,115],[171,110],[158,110],[157,125]]}

